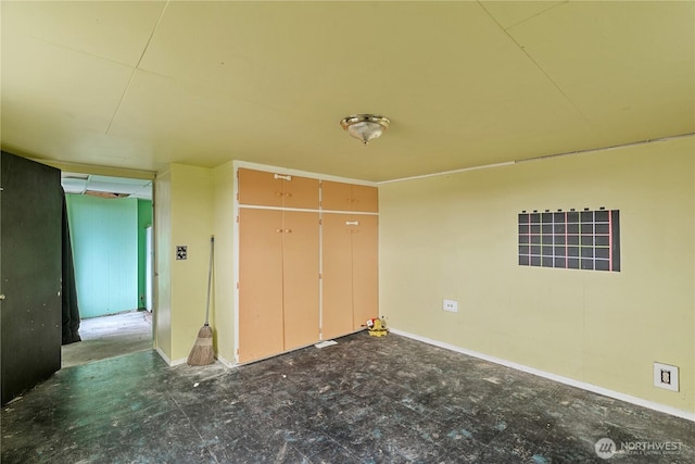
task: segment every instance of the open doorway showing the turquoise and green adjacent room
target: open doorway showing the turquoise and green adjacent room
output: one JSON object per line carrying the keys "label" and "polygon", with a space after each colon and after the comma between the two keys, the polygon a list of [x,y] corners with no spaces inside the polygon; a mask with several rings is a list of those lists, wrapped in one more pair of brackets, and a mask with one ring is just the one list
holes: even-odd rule
{"label": "open doorway showing the turquoise and green adjacent room", "polygon": [[62,367],[152,349],[152,180],[63,172],[79,338]]}

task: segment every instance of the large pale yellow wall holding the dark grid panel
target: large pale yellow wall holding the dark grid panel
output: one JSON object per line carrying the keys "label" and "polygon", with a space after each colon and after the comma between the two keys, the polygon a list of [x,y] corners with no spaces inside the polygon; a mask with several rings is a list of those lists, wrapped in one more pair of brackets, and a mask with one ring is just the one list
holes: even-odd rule
{"label": "large pale yellow wall holding the dark grid panel", "polygon": [[[465,152],[462,152],[465,156]],[[695,139],[383,184],[390,325],[695,411]],[[517,264],[522,210],[620,210],[617,273]],[[458,313],[442,299],[458,300]],[[681,391],[653,387],[653,363]]]}

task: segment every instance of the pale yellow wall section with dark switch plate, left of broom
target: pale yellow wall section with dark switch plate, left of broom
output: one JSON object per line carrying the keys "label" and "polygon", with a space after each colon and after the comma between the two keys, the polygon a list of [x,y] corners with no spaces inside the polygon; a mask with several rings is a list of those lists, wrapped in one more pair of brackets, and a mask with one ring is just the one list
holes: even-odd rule
{"label": "pale yellow wall section with dark switch plate, left of broom", "polygon": [[[205,323],[210,237],[213,234],[213,176],[205,167],[172,164],[172,363],[185,361]],[[160,199],[156,199],[159,203]],[[176,260],[176,246],[188,247],[188,259]]]}

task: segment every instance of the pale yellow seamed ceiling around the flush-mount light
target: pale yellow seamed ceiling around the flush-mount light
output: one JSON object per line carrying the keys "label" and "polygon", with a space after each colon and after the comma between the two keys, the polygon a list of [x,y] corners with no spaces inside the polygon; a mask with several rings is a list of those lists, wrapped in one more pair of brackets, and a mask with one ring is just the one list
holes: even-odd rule
{"label": "pale yellow seamed ceiling around the flush-mount light", "polygon": [[693,1],[0,8],[2,149],[47,162],[380,181],[695,131]]}

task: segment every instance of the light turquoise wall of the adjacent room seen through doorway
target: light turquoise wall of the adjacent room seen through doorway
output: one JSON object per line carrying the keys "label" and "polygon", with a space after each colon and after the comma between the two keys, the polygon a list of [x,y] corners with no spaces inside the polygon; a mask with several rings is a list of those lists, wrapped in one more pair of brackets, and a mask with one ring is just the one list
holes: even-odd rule
{"label": "light turquoise wall of the adjacent room seen through doorway", "polygon": [[137,309],[138,200],[77,195],[66,199],[80,316]]}

